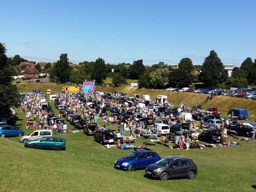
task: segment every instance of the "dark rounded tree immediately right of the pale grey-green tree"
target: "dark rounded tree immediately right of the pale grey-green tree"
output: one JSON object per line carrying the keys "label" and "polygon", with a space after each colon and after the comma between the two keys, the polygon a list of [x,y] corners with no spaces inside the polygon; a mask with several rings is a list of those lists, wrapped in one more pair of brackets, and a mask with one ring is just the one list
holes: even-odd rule
{"label": "dark rounded tree immediately right of the pale grey-green tree", "polygon": [[189,73],[185,69],[176,69],[169,74],[169,85],[171,87],[187,87],[190,84]]}

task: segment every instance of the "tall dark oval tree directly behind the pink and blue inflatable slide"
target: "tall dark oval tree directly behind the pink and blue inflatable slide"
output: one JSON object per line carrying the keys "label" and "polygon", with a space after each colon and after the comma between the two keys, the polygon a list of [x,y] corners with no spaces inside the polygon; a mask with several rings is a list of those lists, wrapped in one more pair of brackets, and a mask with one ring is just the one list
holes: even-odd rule
{"label": "tall dark oval tree directly behind the pink and blue inflatable slide", "polygon": [[105,61],[102,58],[95,60],[91,71],[92,79],[96,80],[96,83],[101,84],[103,80],[107,77],[107,69]]}

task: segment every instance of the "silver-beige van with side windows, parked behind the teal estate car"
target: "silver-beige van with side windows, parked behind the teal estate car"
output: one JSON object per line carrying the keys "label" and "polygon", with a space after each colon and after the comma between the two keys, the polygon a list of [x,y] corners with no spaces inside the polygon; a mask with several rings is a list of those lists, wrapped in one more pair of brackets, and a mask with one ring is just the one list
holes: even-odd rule
{"label": "silver-beige van with side windows, parked behind the teal estate car", "polygon": [[42,137],[52,137],[52,130],[51,129],[41,129],[36,130],[28,135],[23,135],[19,138],[21,143],[26,143],[29,140],[37,140]]}

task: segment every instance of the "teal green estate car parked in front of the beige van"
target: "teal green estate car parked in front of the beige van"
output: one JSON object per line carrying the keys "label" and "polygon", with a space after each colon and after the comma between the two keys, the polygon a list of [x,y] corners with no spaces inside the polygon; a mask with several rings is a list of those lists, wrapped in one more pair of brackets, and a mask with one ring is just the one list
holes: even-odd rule
{"label": "teal green estate car parked in front of the beige van", "polygon": [[44,149],[54,149],[56,151],[65,150],[66,141],[64,138],[60,137],[42,137],[37,140],[27,141],[24,147],[29,147],[32,149],[35,148],[44,148]]}

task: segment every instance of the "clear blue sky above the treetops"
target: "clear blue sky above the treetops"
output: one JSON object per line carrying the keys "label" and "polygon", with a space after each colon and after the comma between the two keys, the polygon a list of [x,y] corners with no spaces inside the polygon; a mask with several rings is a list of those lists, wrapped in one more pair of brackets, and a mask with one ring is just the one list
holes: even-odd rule
{"label": "clear blue sky above the treetops", "polygon": [[[8,56],[144,65],[183,57],[202,64],[256,58],[256,1],[1,1],[0,42]],[[48,60],[47,60],[48,59]]]}

